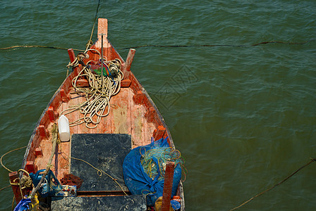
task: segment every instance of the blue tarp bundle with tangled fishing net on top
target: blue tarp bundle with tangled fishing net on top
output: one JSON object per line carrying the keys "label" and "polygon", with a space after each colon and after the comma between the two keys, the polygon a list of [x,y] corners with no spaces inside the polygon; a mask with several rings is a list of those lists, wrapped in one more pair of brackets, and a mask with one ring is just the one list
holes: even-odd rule
{"label": "blue tarp bundle with tangled fishing net on top", "polygon": [[159,139],[146,146],[134,148],[123,162],[124,181],[133,195],[144,194],[147,205],[153,206],[164,189],[164,166],[166,161],[174,161],[174,181],[171,197],[176,195],[181,180],[181,153],[172,149],[166,139]]}

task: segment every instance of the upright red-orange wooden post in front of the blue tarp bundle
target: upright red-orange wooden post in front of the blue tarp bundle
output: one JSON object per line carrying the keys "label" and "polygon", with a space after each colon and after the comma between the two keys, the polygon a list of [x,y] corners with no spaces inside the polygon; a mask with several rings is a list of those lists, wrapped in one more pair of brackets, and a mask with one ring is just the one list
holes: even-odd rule
{"label": "upright red-orange wooden post in front of the blue tarp bundle", "polygon": [[162,193],[162,211],[169,211],[172,184],[174,181],[174,162],[166,162],[166,172],[164,174],[164,192]]}

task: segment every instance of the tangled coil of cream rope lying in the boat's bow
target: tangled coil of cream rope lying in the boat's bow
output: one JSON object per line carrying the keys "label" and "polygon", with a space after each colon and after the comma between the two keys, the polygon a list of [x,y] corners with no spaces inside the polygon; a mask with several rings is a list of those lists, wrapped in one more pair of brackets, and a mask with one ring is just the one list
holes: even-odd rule
{"label": "tangled coil of cream rope lying in the boat's bow", "polygon": [[[87,49],[87,51],[99,51],[95,49]],[[85,51],[85,53],[87,52]],[[111,96],[119,93],[121,90],[121,80],[123,79],[123,72],[121,71],[121,60],[107,60],[104,56],[104,66],[107,70],[115,69],[118,74],[117,77],[104,77],[102,80],[102,75],[94,74],[88,64],[93,60],[87,62],[87,66],[79,72],[79,74],[73,78],[72,84],[76,91],[80,91],[85,94],[85,101],[76,106],[71,106],[70,108],[63,110],[61,114],[68,115],[76,110],[78,110],[83,117],[79,117],[78,120],[74,120],[69,123],[69,126],[75,126],[78,124],[85,123],[87,128],[95,128],[101,122],[102,117],[109,115],[110,106],[109,101]],[[89,87],[77,87],[78,79],[85,77],[89,82]],[[103,83],[102,83],[103,81]],[[92,124],[92,126],[90,126]]]}

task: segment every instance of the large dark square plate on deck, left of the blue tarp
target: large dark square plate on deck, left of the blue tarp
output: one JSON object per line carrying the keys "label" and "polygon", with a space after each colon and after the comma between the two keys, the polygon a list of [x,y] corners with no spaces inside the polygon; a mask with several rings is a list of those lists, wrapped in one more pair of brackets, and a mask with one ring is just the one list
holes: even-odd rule
{"label": "large dark square plate on deck, left of the blue tarp", "polygon": [[[71,157],[89,162],[97,169],[117,179],[128,188],[123,179],[123,161],[131,149],[129,134],[73,134],[71,136]],[[71,159],[71,174],[83,179],[78,191],[121,191],[121,188],[106,174],[100,177],[97,170],[87,163]],[[100,174],[100,172],[99,172]]]}

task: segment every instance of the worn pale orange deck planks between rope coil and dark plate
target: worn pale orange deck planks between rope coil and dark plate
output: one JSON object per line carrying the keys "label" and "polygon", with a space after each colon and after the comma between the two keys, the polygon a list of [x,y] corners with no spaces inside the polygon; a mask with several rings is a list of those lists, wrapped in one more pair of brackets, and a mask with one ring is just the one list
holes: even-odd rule
{"label": "worn pale orange deck planks between rope coil and dark plate", "polygon": [[[76,106],[85,101],[83,94],[73,94],[75,90],[71,88],[70,100],[68,102],[61,103],[61,106],[57,109],[59,114],[63,110]],[[85,123],[79,124],[74,127],[70,127],[71,134],[130,134],[132,137],[131,148],[147,145],[150,143],[154,134],[156,125],[153,122],[148,122],[144,117],[146,108],[141,104],[136,104],[133,100],[133,91],[130,88],[121,88],[119,95],[112,96],[110,99],[110,113],[107,117],[102,117],[99,125],[94,129],[89,129],[85,126]],[[83,117],[80,112],[75,111],[66,115],[69,122],[78,120],[79,117]],[[49,130],[52,127],[52,123]],[[63,178],[63,174],[69,173],[69,157],[70,157],[70,145],[71,142],[61,142],[58,146],[58,156],[52,167],[58,179]],[[43,156],[39,156],[35,159],[35,166],[38,170],[46,168],[49,155],[51,154],[50,141],[41,141],[39,148],[42,149]],[[47,159],[47,160],[45,160]]]}

